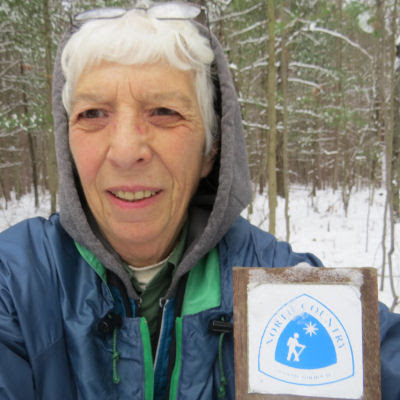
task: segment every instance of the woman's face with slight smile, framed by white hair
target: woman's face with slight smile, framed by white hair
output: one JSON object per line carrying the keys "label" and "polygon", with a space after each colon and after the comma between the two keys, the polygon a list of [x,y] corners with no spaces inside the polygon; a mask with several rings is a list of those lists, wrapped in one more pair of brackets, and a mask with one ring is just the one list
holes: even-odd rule
{"label": "woman's face with slight smile, framed by white hair", "polygon": [[192,73],[110,62],[85,70],[69,143],[89,207],[114,249],[135,266],[166,257],[212,168]]}

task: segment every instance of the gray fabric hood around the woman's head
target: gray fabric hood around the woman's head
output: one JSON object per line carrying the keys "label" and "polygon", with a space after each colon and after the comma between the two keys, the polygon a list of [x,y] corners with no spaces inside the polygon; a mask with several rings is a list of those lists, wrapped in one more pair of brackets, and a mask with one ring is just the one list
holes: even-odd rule
{"label": "gray fabric hood around the woman's head", "polygon": [[[208,29],[199,25],[205,36]],[[72,35],[68,32],[60,43],[53,83],[53,116],[59,175],[60,219],[64,229],[124,283],[131,298],[137,299],[122,260],[102,237],[84,200],[68,144],[68,116],[62,103],[65,79],[60,58],[62,49]],[[179,279],[192,269],[201,257],[221,240],[251,199],[247,152],[241,114],[228,63],[220,43],[211,37],[215,54],[217,99],[215,107],[220,121],[220,148],[210,175],[200,182],[189,207],[189,233],[180,265],[166,297],[175,293]]]}

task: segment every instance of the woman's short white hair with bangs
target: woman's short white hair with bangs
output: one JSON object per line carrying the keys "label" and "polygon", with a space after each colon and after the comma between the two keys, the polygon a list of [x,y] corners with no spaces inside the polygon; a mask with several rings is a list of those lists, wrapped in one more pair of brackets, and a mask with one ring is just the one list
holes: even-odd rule
{"label": "woman's short white hair with bangs", "polygon": [[119,18],[90,20],[71,36],[62,53],[63,104],[69,114],[80,75],[96,62],[143,65],[166,61],[174,68],[192,70],[207,154],[216,131],[213,58],[209,40],[188,20],[158,20],[135,9]]}

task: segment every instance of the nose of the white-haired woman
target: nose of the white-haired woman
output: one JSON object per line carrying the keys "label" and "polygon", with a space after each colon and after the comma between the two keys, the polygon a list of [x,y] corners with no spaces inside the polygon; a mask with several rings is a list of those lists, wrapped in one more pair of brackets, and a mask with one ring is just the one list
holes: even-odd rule
{"label": "nose of the white-haired woman", "polygon": [[111,127],[107,158],[117,168],[145,165],[152,158],[149,132],[144,122],[134,115],[121,115]]}

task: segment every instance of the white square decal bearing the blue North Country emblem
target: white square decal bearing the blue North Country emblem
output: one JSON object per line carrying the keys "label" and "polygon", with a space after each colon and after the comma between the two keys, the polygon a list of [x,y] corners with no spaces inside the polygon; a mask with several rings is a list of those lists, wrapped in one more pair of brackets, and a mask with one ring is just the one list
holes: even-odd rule
{"label": "white square decal bearing the blue North Country emblem", "polygon": [[248,290],[250,392],[359,399],[362,314],[348,285]]}

